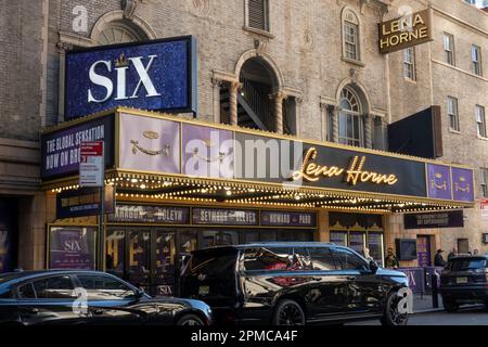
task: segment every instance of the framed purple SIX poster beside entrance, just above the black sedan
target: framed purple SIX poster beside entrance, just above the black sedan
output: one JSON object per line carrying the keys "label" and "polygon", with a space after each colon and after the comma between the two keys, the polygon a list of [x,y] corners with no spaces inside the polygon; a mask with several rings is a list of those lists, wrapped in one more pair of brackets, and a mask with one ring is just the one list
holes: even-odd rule
{"label": "framed purple SIX poster beside entrance, just above the black sedan", "polygon": [[50,227],[50,269],[95,269],[97,227]]}

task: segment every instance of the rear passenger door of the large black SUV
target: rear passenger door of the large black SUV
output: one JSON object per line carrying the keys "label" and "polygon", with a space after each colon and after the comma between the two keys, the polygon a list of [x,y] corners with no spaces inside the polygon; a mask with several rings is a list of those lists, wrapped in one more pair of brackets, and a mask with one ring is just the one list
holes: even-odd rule
{"label": "rear passenger door of the large black SUV", "polygon": [[305,299],[312,319],[343,313],[347,306],[346,279],[336,267],[329,247],[308,247],[310,282]]}

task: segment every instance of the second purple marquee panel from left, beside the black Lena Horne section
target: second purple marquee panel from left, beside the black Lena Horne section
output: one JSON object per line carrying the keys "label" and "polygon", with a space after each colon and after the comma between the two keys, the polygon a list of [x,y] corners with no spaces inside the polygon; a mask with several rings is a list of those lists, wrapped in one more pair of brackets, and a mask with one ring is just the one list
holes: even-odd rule
{"label": "second purple marquee panel from left, beside the black Lena Horne section", "polygon": [[182,125],[184,175],[233,178],[234,151],[232,131]]}

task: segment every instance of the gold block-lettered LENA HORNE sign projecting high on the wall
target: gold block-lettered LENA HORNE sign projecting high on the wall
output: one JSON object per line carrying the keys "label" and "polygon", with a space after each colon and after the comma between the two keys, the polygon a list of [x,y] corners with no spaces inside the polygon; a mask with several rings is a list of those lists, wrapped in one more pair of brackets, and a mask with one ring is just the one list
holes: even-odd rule
{"label": "gold block-lettered LENA HORNE sign projecting high on the wall", "polygon": [[383,54],[429,41],[433,41],[431,10],[380,24],[380,52]]}

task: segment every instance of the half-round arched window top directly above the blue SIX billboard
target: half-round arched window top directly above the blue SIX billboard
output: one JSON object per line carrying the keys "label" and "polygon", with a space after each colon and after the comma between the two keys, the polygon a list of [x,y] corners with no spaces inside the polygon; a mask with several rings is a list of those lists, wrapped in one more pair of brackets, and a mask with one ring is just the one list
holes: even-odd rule
{"label": "half-round arched window top directly above the blue SIX billboard", "polygon": [[95,39],[97,46],[127,43],[146,40],[147,36],[128,21],[114,21],[106,24]]}

